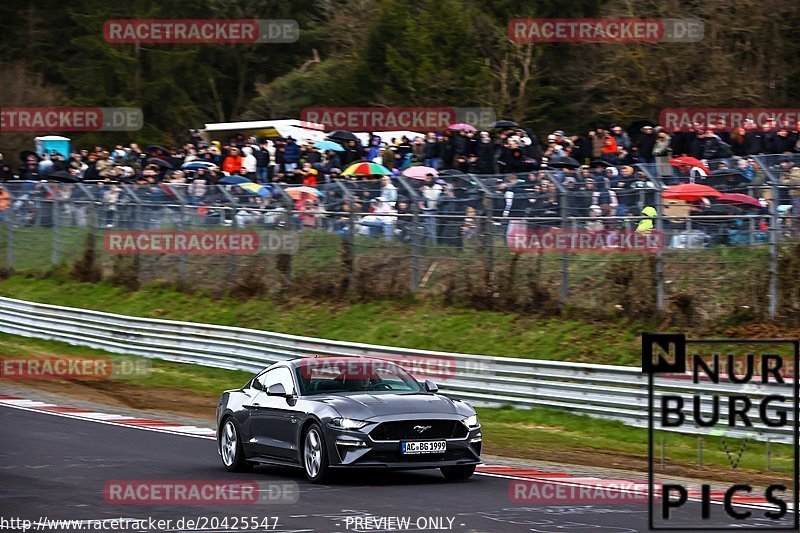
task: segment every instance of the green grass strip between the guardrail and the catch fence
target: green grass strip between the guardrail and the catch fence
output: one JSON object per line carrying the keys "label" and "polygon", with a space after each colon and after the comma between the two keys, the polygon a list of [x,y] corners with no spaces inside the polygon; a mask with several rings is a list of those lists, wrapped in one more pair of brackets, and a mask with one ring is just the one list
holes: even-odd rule
{"label": "green grass strip between the guardrail and the catch fence", "polygon": [[419,301],[338,304],[213,298],[162,285],[16,275],[0,296],[148,318],[206,322],[333,340],[505,357],[639,365],[644,324],[536,318]]}

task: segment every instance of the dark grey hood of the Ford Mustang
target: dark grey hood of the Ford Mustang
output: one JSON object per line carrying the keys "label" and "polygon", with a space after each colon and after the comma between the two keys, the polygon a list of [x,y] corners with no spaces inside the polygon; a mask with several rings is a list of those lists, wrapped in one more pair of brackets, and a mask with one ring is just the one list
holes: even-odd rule
{"label": "dark grey hood of the Ford Mustang", "polygon": [[472,409],[445,396],[427,393],[406,394],[331,394],[314,398],[334,408],[345,418],[369,420],[391,415],[457,415],[468,416]]}

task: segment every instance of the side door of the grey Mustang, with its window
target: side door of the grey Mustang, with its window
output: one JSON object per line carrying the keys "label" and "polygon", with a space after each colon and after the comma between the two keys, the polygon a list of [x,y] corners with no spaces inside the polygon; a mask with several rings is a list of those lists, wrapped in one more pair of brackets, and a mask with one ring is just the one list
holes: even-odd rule
{"label": "side door of the grey Mustang, with its window", "polygon": [[[283,385],[286,397],[267,394],[269,387],[278,383]],[[247,407],[251,449],[259,455],[296,461],[299,424],[291,371],[283,366],[273,368],[256,378],[256,386],[261,390]]]}

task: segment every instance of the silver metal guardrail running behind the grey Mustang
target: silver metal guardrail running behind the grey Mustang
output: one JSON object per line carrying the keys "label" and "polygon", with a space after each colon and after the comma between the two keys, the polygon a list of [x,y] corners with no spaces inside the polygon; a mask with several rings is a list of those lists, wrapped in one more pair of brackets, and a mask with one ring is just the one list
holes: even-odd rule
{"label": "silver metal guardrail running behind the grey Mustang", "polygon": [[[647,425],[647,376],[638,368],[564,363],[412,350],[340,342],[254,329],[193,322],[140,318],[74,307],[0,298],[0,331],[53,339],[115,353],[197,363],[255,372],[276,361],[316,354],[370,355],[410,364],[423,360],[444,363],[437,379],[441,391],[483,405],[546,407],[576,414]],[[690,380],[673,380],[656,391],[684,396],[686,412],[692,395],[704,387]],[[755,396],[783,391],[786,386],[762,385]],[[656,402],[658,403],[658,402]],[[703,408],[708,413],[708,407]],[[684,432],[708,433],[705,428]],[[760,440],[791,442],[791,424],[784,428],[754,426],[748,432]],[[744,436],[742,431],[728,432]]]}

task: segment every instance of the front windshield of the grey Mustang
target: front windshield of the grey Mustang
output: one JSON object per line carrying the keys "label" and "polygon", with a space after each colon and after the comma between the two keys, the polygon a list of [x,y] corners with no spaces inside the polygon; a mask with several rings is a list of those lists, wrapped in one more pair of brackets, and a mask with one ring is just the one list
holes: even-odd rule
{"label": "front windshield of the grey Mustang", "polygon": [[422,392],[405,370],[380,359],[309,358],[295,369],[301,394]]}

